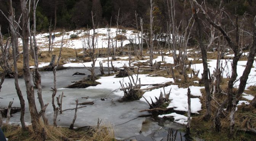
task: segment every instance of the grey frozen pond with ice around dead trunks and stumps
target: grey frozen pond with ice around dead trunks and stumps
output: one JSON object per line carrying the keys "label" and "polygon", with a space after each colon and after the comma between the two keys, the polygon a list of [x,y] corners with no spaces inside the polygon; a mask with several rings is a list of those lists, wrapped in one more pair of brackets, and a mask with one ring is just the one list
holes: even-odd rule
{"label": "grey frozen pond with ice around dead trunks and stumps", "polygon": [[[99,74],[99,69],[96,69],[96,74]],[[150,120],[150,118],[146,117],[138,117],[142,114],[147,113],[139,113],[140,110],[144,110],[149,108],[146,102],[135,100],[133,102],[118,102],[120,96],[116,94],[109,94],[111,89],[64,89],[65,86],[71,84],[71,81],[77,81],[85,77],[85,75],[74,75],[75,72],[82,72],[86,75],[90,74],[84,68],[68,68],[64,70],[59,70],[56,72],[56,85],[58,88],[56,96],[64,92],[63,100],[62,100],[62,110],[75,108],[75,100],[78,99],[80,102],[89,102],[94,101],[94,105],[86,105],[86,107],[79,108],[77,111],[77,119],[75,121],[75,127],[82,126],[94,126],[97,125],[98,118],[106,125],[114,126],[115,136],[120,139],[128,139],[134,136],[154,136],[159,130],[163,130],[161,126],[158,125],[157,122]],[[46,109],[46,116],[50,124],[53,123],[53,107],[51,105],[51,96],[52,91],[51,87],[53,87],[53,72],[41,72],[42,75],[42,96],[44,103],[49,103]],[[22,95],[25,99],[26,109],[25,109],[25,122],[30,123],[30,114],[28,109],[27,97],[26,97],[26,87],[24,84],[24,79],[19,79],[19,86],[22,91]],[[102,101],[101,98],[108,95],[107,100]],[[88,99],[84,99],[82,97],[89,97]],[[14,86],[14,79],[6,78],[1,92],[0,97],[0,107],[7,107],[8,103],[14,99],[14,103],[12,107],[20,107],[19,99],[16,94],[16,89]],[[37,89],[35,89],[35,97],[37,97]],[[56,99],[55,99],[56,100]],[[111,102],[113,101],[113,102]],[[37,109],[39,111],[40,104],[38,99],[36,99]],[[55,101],[56,104],[56,101]],[[57,105],[57,104],[56,104]],[[79,107],[79,106],[78,106]],[[20,117],[20,112],[13,114],[10,122],[14,124],[18,124]],[[64,111],[62,114],[58,115],[57,124],[60,126],[69,126],[74,117],[74,110]],[[136,118],[136,119],[135,119]],[[132,120],[133,119],[133,120]],[[131,121],[130,121],[131,120]],[[129,122],[128,122],[129,121]],[[127,123],[125,123],[127,122]],[[125,123],[125,124],[123,124]],[[142,124],[143,123],[143,124]],[[119,125],[121,124],[121,125]],[[166,126],[170,126],[170,128],[178,129],[181,126],[178,124],[168,123]],[[162,132],[161,132],[162,133]],[[168,133],[168,131],[166,131]],[[138,139],[137,138],[137,139]],[[145,138],[146,139],[146,138]]]}

